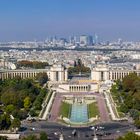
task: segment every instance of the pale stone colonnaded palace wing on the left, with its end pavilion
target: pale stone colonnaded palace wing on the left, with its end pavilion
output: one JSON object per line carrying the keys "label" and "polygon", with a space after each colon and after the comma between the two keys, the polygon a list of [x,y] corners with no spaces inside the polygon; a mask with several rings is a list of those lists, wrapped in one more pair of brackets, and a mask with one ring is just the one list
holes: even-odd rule
{"label": "pale stone colonnaded palace wing on the left, with its end pavilion", "polygon": [[67,81],[67,69],[63,65],[53,65],[46,69],[16,69],[16,70],[0,70],[0,79],[12,79],[16,76],[21,78],[33,78],[38,73],[47,73],[50,81]]}

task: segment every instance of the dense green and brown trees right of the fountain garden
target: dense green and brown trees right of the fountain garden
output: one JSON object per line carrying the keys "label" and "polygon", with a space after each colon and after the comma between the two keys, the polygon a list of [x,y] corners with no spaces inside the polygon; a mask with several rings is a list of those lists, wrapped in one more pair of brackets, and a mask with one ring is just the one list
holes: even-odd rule
{"label": "dense green and brown trees right of the fountain garden", "polygon": [[132,73],[122,81],[116,81],[111,92],[116,95],[120,104],[120,110],[128,113],[137,127],[140,127],[140,77]]}

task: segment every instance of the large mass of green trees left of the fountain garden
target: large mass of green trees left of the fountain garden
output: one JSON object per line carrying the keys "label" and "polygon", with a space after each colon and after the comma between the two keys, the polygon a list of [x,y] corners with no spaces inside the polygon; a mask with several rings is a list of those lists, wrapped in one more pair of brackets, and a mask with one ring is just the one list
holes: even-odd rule
{"label": "large mass of green trees left of the fountain garden", "polygon": [[0,109],[4,112],[0,114],[0,130],[19,126],[30,110],[33,116],[37,115],[46,94],[47,90],[31,79],[15,77],[0,81],[0,102],[3,104]]}

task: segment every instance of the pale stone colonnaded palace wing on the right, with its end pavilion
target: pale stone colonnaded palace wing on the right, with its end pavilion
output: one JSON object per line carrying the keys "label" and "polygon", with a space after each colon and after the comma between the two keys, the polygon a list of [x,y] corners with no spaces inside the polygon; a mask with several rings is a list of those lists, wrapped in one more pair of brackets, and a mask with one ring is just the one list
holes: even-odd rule
{"label": "pale stone colonnaded palace wing on the right, with its end pavilion", "polygon": [[99,64],[91,70],[91,79],[94,81],[122,80],[130,73],[140,76],[140,67]]}

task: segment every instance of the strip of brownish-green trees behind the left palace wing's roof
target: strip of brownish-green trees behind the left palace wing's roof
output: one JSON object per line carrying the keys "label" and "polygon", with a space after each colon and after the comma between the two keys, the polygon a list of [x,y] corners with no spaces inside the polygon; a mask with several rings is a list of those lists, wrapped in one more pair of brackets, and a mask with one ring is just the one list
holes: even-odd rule
{"label": "strip of brownish-green trees behind the left palace wing's roof", "polygon": [[35,69],[44,69],[48,65],[49,65],[48,62],[22,60],[22,61],[18,61],[17,68],[27,67],[27,68],[35,68]]}

